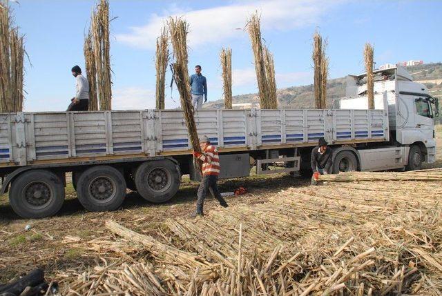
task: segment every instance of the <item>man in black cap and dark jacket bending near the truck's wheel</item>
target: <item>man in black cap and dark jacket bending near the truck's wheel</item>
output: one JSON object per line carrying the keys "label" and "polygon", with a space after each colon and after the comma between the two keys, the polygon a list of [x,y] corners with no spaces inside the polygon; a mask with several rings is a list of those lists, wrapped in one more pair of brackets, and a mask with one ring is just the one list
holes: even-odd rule
{"label": "man in black cap and dark jacket bending near the truck's wheel", "polygon": [[327,147],[327,141],[324,138],[319,139],[318,146],[311,150],[311,185],[317,185],[319,175],[327,175],[332,172],[332,149]]}

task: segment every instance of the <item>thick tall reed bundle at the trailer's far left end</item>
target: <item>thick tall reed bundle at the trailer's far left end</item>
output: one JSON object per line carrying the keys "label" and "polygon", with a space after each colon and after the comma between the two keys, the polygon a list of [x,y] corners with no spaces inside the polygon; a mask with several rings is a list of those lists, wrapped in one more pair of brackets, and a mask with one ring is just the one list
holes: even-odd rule
{"label": "thick tall reed bundle at the trailer's far left end", "polygon": [[0,112],[23,110],[23,36],[12,28],[8,1],[0,0]]}

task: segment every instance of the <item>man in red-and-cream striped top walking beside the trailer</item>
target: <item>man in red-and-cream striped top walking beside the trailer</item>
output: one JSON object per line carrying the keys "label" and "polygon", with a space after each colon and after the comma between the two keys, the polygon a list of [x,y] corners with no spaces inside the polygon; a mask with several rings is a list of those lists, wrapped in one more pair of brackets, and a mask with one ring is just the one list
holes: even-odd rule
{"label": "man in red-and-cream striped top walking beside the trailer", "polygon": [[216,182],[220,175],[220,157],[218,157],[218,149],[211,145],[209,138],[204,136],[200,139],[200,147],[202,153],[193,152],[193,155],[202,161],[202,180],[200,188],[198,188],[198,201],[196,203],[196,211],[192,217],[204,216],[202,206],[207,195],[207,190],[213,190],[213,197],[220,201],[220,205],[227,208],[227,202],[222,198],[220,190]]}

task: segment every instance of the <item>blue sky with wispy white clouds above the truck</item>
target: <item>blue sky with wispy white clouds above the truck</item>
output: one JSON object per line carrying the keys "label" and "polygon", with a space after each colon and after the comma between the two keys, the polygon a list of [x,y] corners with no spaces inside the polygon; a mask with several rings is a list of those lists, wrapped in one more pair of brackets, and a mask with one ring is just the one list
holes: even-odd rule
{"label": "blue sky with wispy white clouds above the truck", "polygon": [[[209,101],[222,98],[220,48],[233,50],[233,95],[256,92],[247,17],[261,14],[262,36],[275,56],[278,88],[312,83],[311,36],[328,38],[330,78],[363,71],[365,42],[375,61],[441,61],[442,1],[131,1],[111,0],[113,108],[155,106],[155,38],[164,19],[190,23],[189,70],[197,63],[209,83]],[[27,111],[66,110],[75,95],[70,68],[84,68],[84,33],[95,1],[21,0],[11,3],[25,34]],[[167,84],[170,81],[168,73]],[[166,89],[166,108],[179,104]]]}

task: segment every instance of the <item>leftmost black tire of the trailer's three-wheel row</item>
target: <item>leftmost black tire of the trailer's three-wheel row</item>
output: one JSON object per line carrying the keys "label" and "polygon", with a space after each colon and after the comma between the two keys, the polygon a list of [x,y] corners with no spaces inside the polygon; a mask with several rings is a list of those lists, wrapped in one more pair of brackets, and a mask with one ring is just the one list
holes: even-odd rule
{"label": "leftmost black tire of the trailer's three-wheel row", "polygon": [[9,202],[12,210],[23,218],[50,217],[64,201],[64,184],[48,170],[28,170],[12,181]]}

